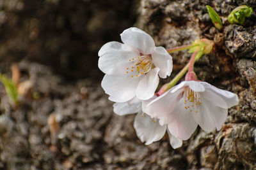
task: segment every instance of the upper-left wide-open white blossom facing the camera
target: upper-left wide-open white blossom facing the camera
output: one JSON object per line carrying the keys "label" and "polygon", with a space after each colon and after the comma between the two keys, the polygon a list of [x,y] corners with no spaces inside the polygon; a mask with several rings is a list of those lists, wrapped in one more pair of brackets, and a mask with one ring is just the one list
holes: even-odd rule
{"label": "upper-left wide-open white blossom facing the camera", "polygon": [[102,88],[114,102],[126,102],[135,96],[150,99],[159,76],[170,76],[172,56],[136,27],[126,29],[120,36],[124,43],[111,41],[99,50],[99,68],[106,74]]}

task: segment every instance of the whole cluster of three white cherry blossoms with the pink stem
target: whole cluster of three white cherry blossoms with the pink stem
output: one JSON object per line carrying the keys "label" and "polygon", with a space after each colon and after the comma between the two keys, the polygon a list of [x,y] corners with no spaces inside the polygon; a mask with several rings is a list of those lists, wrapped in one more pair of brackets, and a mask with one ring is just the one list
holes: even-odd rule
{"label": "whole cluster of three white cherry blossoms with the pink stem", "polygon": [[105,73],[101,85],[109,100],[115,102],[116,114],[137,113],[134,129],[141,142],[149,145],[167,131],[172,147],[179,148],[197,125],[207,132],[221,129],[228,108],[239,100],[232,92],[196,80],[196,45],[191,46],[196,52],[185,81],[172,88],[166,84],[156,93],[159,77],[172,73],[172,56],[136,27],[126,29],[120,36],[123,43],[112,41],[99,50],[99,68]]}

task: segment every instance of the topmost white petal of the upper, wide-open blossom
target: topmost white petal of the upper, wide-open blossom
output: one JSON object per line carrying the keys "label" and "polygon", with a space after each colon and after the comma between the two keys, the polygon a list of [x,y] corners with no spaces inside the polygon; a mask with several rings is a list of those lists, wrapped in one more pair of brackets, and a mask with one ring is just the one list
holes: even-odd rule
{"label": "topmost white petal of the upper, wide-open blossom", "polygon": [[152,53],[156,47],[154,39],[145,31],[136,27],[125,29],[120,36],[125,45],[131,45],[138,48],[140,53],[143,53],[144,55]]}

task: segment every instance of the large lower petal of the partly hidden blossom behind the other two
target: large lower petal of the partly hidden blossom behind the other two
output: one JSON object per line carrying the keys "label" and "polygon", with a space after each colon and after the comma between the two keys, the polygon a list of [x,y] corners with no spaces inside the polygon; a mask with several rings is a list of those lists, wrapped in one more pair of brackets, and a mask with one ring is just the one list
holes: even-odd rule
{"label": "large lower petal of the partly hidden blossom behind the other two", "polygon": [[142,113],[136,115],[133,126],[138,138],[141,142],[146,142],[146,145],[159,141],[166,132],[166,125],[161,126],[157,120],[153,122],[152,118]]}

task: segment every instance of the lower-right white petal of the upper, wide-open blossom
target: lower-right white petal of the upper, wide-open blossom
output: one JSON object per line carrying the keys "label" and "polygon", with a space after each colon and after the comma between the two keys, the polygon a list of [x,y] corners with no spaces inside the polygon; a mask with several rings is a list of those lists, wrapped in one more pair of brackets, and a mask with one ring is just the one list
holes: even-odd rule
{"label": "lower-right white petal of the upper, wide-open blossom", "polygon": [[140,83],[136,89],[136,96],[141,100],[147,100],[154,96],[157,85],[159,83],[158,77],[159,68],[156,67],[148,71],[148,73],[141,78]]}

